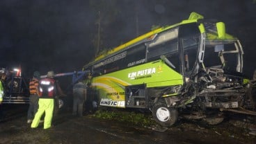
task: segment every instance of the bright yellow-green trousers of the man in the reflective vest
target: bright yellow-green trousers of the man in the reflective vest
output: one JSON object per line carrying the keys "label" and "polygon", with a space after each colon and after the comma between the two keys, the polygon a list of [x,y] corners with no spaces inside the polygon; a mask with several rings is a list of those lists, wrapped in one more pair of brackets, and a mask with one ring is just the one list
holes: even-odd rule
{"label": "bright yellow-green trousers of the man in the reflective vest", "polygon": [[54,114],[54,99],[50,98],[39,98],[38,100],[38,112],[35,114],[35,118],[31,124],[31,128],[38,127],[40,118],[45,112],[44,129],[51,127],[51,119]]}

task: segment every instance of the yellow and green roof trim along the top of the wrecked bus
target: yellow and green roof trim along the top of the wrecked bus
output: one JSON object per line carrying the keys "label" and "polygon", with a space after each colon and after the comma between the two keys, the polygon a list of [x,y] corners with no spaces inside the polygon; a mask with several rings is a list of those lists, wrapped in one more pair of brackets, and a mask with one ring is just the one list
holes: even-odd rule
{"label": "yellow and green roof trim along the top of the wrecked bus", "polygon": [[[104,60],[104,58],[107,58],[110,55],[113,55],[113,53],[121,51],[124,48],[127,48],[129,46],[137,44],[138,42],[143,42],[143,40],[148,39],[149,37],[152,37],[157,33],[161,33],[165,30],[168,30],[170,28],[175,28],[175,27],[180,26],[180,25],[191,24],[191,23],[198,22],[198,19],[204,19],[204,17],[202,15],[198,14],[197,12],[191,12],[191,14],[189,15],[189,19],[185,19],[185,20],[183,20],[183,21],[181,21],[177,24],[173,24],[173,25],[170,25],[170,26],[163,26],[161,28],[157,28],[155,30],[150,31],[149,33],[145,33],[144,35],[136,37],[135,39],[131,39],[129,42],[127,42],[125,44],[122,44],[120,46],[117,46],[117,47],[107,51],[106,53],[104,53],[102,55],[99,55],[98,57],[95,58],[95,60],[93,60],[93,62],[90,62],[89,64],[86,64],[85,66],[83,66],[83,68],[86,68],[86,67],[90,66],[91,64],[94,64],[95,62],[98,62],[99,60]],[[200,28],[200,26],[199,26],[199,28]],[[200,29],[201,33],[203,33],[204,30],[205,30],[204,28]],[[218,35],[217,36],[212,35],[211,33],[208,33],[207,35],[208,35],[207,40],[209,42],[214,42],[216,39],[219,39]],[[224,39],[222,39],[222,40],[224,40]],[[233,42],[233,41],[236,41],[237,38],[232,37],[232,35],[228,35],[227,33],[225,33],[225,40]]]}

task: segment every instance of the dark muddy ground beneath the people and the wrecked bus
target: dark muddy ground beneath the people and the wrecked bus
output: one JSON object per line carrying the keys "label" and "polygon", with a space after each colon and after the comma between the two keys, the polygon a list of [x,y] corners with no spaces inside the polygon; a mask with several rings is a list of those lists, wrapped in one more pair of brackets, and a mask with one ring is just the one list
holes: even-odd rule
{"label": "dark muddy ground beneath the people and the wrecked bus", "polygon": [[[166,132],[120,121],[86,115],[74,118],[70,109],[60,111],[51,129],[31,129],[26,124],[25,105],[3,107],[0,121],[0,143],[256,143],[250,134],[253,125],[239,120],[226,120],[220,125],[204,125],[178,120]],[[247,127],[247,128],[246,128]]]}

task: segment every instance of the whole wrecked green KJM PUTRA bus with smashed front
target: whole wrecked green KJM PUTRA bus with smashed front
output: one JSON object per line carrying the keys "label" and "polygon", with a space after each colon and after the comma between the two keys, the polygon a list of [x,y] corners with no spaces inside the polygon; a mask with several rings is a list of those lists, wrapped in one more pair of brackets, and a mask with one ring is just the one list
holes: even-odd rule
{"label": "whole wrecked green KJM PUTRA bus with smashed front", "polygon": [[[150,109],[170,127],[179,114],[221,123],[245,97],[243,49],[221,21],[189,19],[136,37],[83,66],[99,107]],[[187,114],[187,115],[186,115]]]}

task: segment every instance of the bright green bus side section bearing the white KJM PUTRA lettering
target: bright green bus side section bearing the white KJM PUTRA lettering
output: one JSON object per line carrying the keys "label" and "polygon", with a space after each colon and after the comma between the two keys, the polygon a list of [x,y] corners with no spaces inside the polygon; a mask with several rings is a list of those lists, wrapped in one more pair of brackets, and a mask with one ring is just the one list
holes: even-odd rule
{"label": "bright green bus side section bearing the white KJM PUTRA lettering", "polygon": [[154,84],[154,87],[166,87],[183,84],[183,76],[162,60],[147,62],[107,75],[118,78],[127,85]]}

